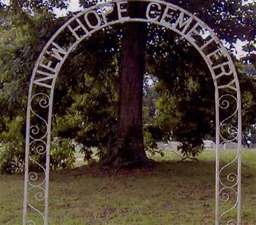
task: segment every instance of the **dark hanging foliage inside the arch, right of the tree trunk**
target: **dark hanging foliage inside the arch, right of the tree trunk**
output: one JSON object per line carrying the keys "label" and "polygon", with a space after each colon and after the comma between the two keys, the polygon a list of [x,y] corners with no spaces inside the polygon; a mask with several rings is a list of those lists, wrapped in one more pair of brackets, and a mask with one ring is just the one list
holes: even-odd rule
{"label": "dark hanging foliage inside the arch, right of the tree trunk", "polygon": [[[164,55],[162,44],[154,43],[152,50],[155,55],[148,55],[148,64],[152,68],[150,73],[159,79],[155,87],[159,93],[156,101],[157,124],[164,131],[164,140],[180,142],[179,149],[184,156],[197,156],[203,149],[202,140],[206,136],[214,136],[212,78],[191,45],[170,31],[162,31],[158,35],[163,43],[175,40],[176,45],[164,46]],[[195,58],[198,60],[195,61]],[[182,67],[173,67],[179,61],[182,61]]]}

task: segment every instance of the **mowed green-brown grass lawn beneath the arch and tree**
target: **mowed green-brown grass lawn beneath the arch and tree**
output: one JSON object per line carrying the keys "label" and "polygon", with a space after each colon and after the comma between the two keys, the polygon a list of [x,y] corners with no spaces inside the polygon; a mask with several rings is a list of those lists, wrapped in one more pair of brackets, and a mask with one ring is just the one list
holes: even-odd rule
{"label": "mowed green-brown grass lawn beneath the arch and tree", "polygon": [[[140,170],[87,165],[53,171],[49,224],[214,225],[214,154],[205,150],[199,162],[182,163],[166,150],[164,159],[155,157],[154,166]],[[231,150],[221,159],[234,156]],[[243,225],[256,225],[255,176],[256,150],[243,150]],[[21,225],[23,175],[2,175],[0,181],[0,224]]]}

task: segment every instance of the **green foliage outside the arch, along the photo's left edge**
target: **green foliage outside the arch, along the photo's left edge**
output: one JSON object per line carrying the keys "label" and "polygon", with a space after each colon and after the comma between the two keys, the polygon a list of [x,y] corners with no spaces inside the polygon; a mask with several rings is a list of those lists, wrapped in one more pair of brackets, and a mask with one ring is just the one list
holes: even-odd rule
{"label": "green foliage outside the arch, along the photo's left edge", "polygon": [[[60,25],[39,1],[10,1],[0,11],[0,171],[23,170],[26,92],[36,57]],[[47,3],[45,3],[47,4]],[[52,6],[54,3],[52,4]],[[32,11],[34,16],[29,15]],[[55,24],[56,23],[56,24]],[[42,28],[43,27],[43,28]],[[34,165],[35,166],[35,165]]]}

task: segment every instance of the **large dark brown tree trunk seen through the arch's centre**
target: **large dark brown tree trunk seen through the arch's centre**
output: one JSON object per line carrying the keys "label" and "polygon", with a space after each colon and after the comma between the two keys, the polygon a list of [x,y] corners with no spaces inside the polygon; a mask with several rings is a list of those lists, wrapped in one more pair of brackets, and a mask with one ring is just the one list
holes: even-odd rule
{"label": "large dark brown tree trunk seen through the arch's centre", "polygon": [[[141,7],[129,6],[129,10],[138,15],[143,11]],[[142,124],[146,43],[147,24],[131,22],[125,25],[120,64],[118,145],[113,161],[117,166],[143,166],[147,163]]]}

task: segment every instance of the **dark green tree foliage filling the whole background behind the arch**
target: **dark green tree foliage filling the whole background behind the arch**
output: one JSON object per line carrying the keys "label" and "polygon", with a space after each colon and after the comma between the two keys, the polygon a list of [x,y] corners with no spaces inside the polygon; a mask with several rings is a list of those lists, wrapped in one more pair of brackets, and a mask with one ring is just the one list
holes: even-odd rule
{"label": "dark green tree foliage filling the whole background behind the arch", "polygon": [[[96,1],[80,1],[89,6]],[[172,1],[202,18],[234,52],[237,39],[248,40],[248,55],[237,63],[243,99],[244,129],[252,129],[256,111],[255,4],[242,1]],[[68,1],[10,1],[0,10],[0,167],[22,170],[26,96],[35,61],[66,18],[53,8]],[[246,27],[246,30],[244,30]],[[156,25],[148,26],[147,73],[144,85],[145,146],[180,142],[184,156],[202,152],[202,140],[214,136],[214,85],[205,62],[182,38]],[[64,40],[64,38],[63,38]],[[118,115],[118,68],[122,25],[104,29],[72,52],[61,69],[54,96],[51,168],[70,168],[74,148],[84,159],[106,159],[115,150]],[[236,61],[234,55],[234,60]],[[254,63],[254,64],[253,64]],[[250,66],[244,66],[250,64]],[[148,82],[153,81],[152,85]],[[155,104],[156,103],[156,104]],[[161,138],[156,134],[161,134]],[[44,159],[40,159],[42,162]]]}

